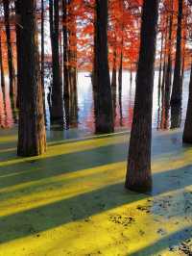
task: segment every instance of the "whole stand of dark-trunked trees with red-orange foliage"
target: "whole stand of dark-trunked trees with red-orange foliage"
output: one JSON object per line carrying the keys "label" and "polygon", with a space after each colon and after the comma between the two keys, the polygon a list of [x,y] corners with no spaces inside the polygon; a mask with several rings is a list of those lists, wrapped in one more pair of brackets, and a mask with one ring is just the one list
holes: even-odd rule
{"label": "whole stand of dark-trunked trees with red-orange foliage", "polygon": [[[192,7],[187,0],[1,0],[0,87],[18,115],[19,156],[46,150],[45,90],[51,124],[73,122],[78,113],[77,74],[91,74],[95,132],[114,131],[116,91],[122,72],[137,71],[126,187],[152,187],[151,140],[154,72],[158,103],[166,116],[180,112],[184,70],[191,64]],[[111,79],[109,72],[111,71]],[[129,83],[129,82],[128,82]],[[5,95],[5,93],[3,93]],[[192,76],[183,133],[192,142]]]}

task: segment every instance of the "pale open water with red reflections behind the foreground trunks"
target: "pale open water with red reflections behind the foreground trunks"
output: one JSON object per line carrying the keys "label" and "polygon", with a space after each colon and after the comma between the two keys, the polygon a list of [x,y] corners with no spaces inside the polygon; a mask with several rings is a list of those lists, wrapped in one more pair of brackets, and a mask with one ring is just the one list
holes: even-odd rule
{"label": "pale open water with red reflections behind the foreground trunks", "polygon": [[[119,97],[118,91],[113,95],[115,102],[115,130],[131,130],[132,128],[132,115],[133,103],[135,93],[135,74],[133,74],[132,84],[130,73],[123,73],[122,97]],[[158,105],[158,89],[157,89],[158,73],[155,75],[155,88],[154,88],[154,108],[153,108],[153,128],[157,130],[168,130],[180,128],[183,126],[184,118],[186,115],[186,107],[188,100],[188,83],[189,72],[185,72],[183,81],[183,94],[182,94],[182,108],[181,110],[165,110],[160,104]],[[8,80],[7,80],[8,84]],[[93,91],[89,73],[80,72],[78,74],[78,109],[77,113],[71,115],[69,126],[64,124],[62,126],[50,123],[50,110],[49,110],[49,92],[50,92],[50,77],[46,78],[46,127],[47,132],[52,130],[63,131],[64,136],[67,138],[67,133],[76,131],[76,133],[84,133],[87,135],[94,134],[95,131],[95,115],[94,115],[94,102]],[[118,86],[117,86],[118,88]],[[64,111],[65,113],[65,111]],[[0,129],[10,129],[16,126],[17,114],[12,111],[11,99],[9,96],[9,89],[5,91],[0,89]]]}

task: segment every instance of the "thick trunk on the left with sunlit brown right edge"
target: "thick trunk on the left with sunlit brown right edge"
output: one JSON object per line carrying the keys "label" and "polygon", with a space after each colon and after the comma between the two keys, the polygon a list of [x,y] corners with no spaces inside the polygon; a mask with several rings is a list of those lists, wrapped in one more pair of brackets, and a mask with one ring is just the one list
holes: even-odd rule
{"label": "thick trunk on the left with sunlit brown right edge", "polygon": [[[20,0],[19,10],[19,156],[45,152],[46,134],[36,31],[36,0]],[[26,47],[27,45],[27,47]]]}

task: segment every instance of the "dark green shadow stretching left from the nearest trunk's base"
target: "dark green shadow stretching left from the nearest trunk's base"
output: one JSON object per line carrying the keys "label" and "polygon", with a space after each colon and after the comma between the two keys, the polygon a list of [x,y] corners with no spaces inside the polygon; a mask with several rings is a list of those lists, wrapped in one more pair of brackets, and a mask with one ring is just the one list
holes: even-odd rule
{"label": "dark green shadow stretching left from the nearest trunk's base", "polygon": [[122,183],[0,218],[0,243],[36,235],[72,221],[128,205],[148,195],[126,192]]}

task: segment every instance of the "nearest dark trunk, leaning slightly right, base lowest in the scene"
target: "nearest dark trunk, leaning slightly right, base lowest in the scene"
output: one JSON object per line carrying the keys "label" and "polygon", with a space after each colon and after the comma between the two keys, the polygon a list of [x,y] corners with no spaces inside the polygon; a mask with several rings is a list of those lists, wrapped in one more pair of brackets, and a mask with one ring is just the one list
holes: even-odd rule
{"label": "nearest dark trunk, leaning slightly right, base lowest in the scene", "polygon": [[157,15],[158,1],[144,1],[132,133],[125,184],[127,189],[135,192],[147,192],[152,188],[151,141]]}

